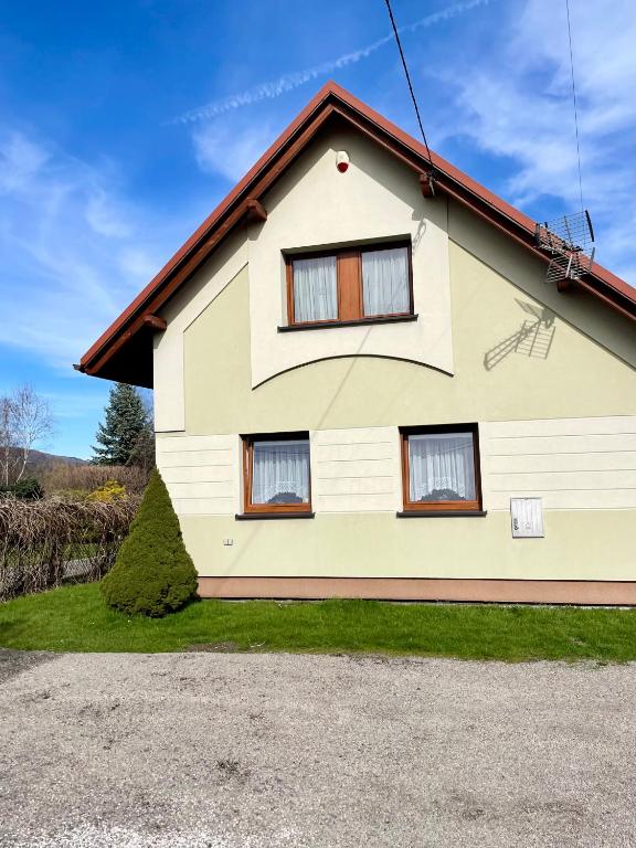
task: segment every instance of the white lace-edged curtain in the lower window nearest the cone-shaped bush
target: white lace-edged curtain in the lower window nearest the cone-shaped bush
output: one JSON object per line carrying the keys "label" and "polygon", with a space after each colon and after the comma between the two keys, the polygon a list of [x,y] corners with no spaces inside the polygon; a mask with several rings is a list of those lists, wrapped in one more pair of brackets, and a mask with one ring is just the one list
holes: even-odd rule
{"label": "white lace-edged curtain in the lower window nearest the cone-shaped bush", "polygon": [[253,504],[309,502],[309,442],[254,442]]}

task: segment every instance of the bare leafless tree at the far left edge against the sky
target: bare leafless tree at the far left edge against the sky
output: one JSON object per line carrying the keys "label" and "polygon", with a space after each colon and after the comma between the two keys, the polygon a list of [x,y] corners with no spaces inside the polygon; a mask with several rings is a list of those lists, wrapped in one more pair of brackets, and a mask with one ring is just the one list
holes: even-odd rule
{"label": "bare leafless tree at the far left edge against the sky", "polygon": [[31,451],[53,430],[49,402],[29,383],[0,398],[0,480],[4,486],[20,483]]}

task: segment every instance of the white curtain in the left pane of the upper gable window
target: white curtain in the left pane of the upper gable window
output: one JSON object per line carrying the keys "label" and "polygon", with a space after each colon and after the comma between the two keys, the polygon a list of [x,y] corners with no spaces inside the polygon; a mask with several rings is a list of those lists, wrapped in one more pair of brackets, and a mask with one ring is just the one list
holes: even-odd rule
{"label": "white curtain in the left pane of the upper gable window", "polygon": [[336,256],[294,259],[294,320],[338,318]]}

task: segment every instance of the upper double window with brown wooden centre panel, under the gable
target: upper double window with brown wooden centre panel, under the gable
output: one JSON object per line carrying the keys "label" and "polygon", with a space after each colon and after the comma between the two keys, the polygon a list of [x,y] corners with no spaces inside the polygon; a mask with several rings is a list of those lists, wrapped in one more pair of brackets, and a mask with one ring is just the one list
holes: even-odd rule
{"label": "upper double window with brown wooden centre panel, under the gable", "polygon": [[413,314],[410,244],[290,255],[286,262],[290,325]]}

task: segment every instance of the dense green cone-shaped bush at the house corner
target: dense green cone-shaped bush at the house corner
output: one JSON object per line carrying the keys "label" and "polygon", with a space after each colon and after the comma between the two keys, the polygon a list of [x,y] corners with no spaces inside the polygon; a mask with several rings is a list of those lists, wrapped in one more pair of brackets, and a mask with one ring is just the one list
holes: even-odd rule
{"label": "dense green cone-shaped bush at the house corner", "polygon": [[102,581],[109,606],[158,617],[197,592],[197,571],[161,475],[153,470],[115,565]]}

